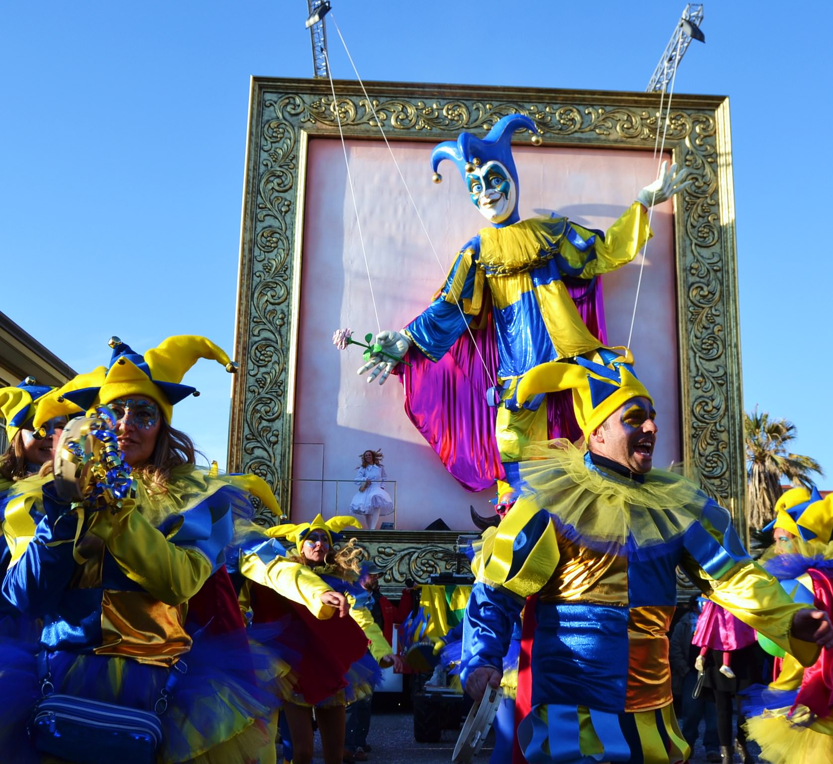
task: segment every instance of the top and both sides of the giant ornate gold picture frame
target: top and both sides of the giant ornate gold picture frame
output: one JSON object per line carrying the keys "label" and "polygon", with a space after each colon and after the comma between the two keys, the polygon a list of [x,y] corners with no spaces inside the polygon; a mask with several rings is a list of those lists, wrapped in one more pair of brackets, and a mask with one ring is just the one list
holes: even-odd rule
{"label": "top and both sides of the giant ornate gold picture frame", "polygon": [[[337,81],[349,138],[379,138],[358,83]],[[652,93],[367,83],[389,139],[456,138],[507,113],[536,120],[545,144],[654,147]],[[337,135],[325,80],[253,78],[237,294],[229,469],[252,471],[289,505],[292,401],[307,140]],[[682,451],[686,473],[730,507],[746,535],[741,349],[727,98],[675,94],[666,134],[694,183],[675,199]],[[264,518],[266,520],[266,518]],[[269,520],[271,521],[271,520]]]}

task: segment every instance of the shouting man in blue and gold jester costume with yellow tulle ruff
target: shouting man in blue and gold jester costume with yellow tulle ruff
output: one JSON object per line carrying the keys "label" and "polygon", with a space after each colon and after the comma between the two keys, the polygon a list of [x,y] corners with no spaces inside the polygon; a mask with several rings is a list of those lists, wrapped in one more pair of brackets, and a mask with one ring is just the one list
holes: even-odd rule
{"label": "shouting man in blue and gold jester costume with yellow tulle ruff", "polygon": [[751,560],[726,510],[689,480],[651,469],[653,399],[620,350],[606,364],[542,364],[517,385],[521,401],[571,390],[587,447],[551,440],[525,450],[521,497],[484,545],[466,608],[461,678],[479,698],[501,681],[526,603],[515,764],[686,761],[666,638],[678,565],[801,665],[833,646],[826,613],[796,604]]}

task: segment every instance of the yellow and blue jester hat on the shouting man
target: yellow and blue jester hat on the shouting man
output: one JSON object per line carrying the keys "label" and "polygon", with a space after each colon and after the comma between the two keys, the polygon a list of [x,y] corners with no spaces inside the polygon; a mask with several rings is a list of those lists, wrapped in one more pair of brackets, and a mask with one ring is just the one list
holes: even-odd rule
{"label": "yellow and blue jester hat on the shouting man", "polygon": [[522,403],[541,393],[572,390],[573,410],[585,440],[621,405],[651,393],[636,377],[633,355],[626,348],[600,348],[604,364],[584,358],[550,361],[530,369],[518,381],[517,400]]}

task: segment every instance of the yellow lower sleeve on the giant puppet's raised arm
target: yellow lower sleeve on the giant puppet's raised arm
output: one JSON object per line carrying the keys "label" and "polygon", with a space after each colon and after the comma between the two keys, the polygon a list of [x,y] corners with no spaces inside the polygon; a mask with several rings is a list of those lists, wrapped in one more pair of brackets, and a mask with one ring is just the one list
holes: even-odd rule
{"label": "yellow lower sleeve on the giant puppet's raised arm", "polygon": [[[582,239],[589,239],[593,235],[592,231],[580,225],[572,223],[571,226]],[[581,278],[591,279],[630,263],[652,235],[651,229],[648,228],[648,214],[645,208],[639,202],[634,202],[606,230],[604,241],[596,238],[596,258],[585,265],[581,271]],[[587,257],[586,253],[579,252],[566,239],[561,240],[561,256],[573,268],[578,268]]]}

